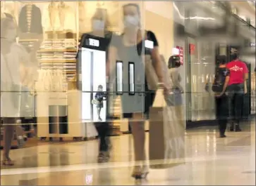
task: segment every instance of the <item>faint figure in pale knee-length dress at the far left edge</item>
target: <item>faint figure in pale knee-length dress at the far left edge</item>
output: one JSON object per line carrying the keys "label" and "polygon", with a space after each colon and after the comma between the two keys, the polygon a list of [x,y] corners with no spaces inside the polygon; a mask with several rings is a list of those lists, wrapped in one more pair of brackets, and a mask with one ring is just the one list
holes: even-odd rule
{"label": "faint figure in pale knee-length dress at the far left edge", "polygon": [[1,161],[6,166],[13,165],[9,152],[16,121],[20,117],[20,87],[25,79],[31,79],[28,77],[28,53],[16,43],[16,37],[15,20],[1,18],[1,119],[4,123],[4,152]]}

